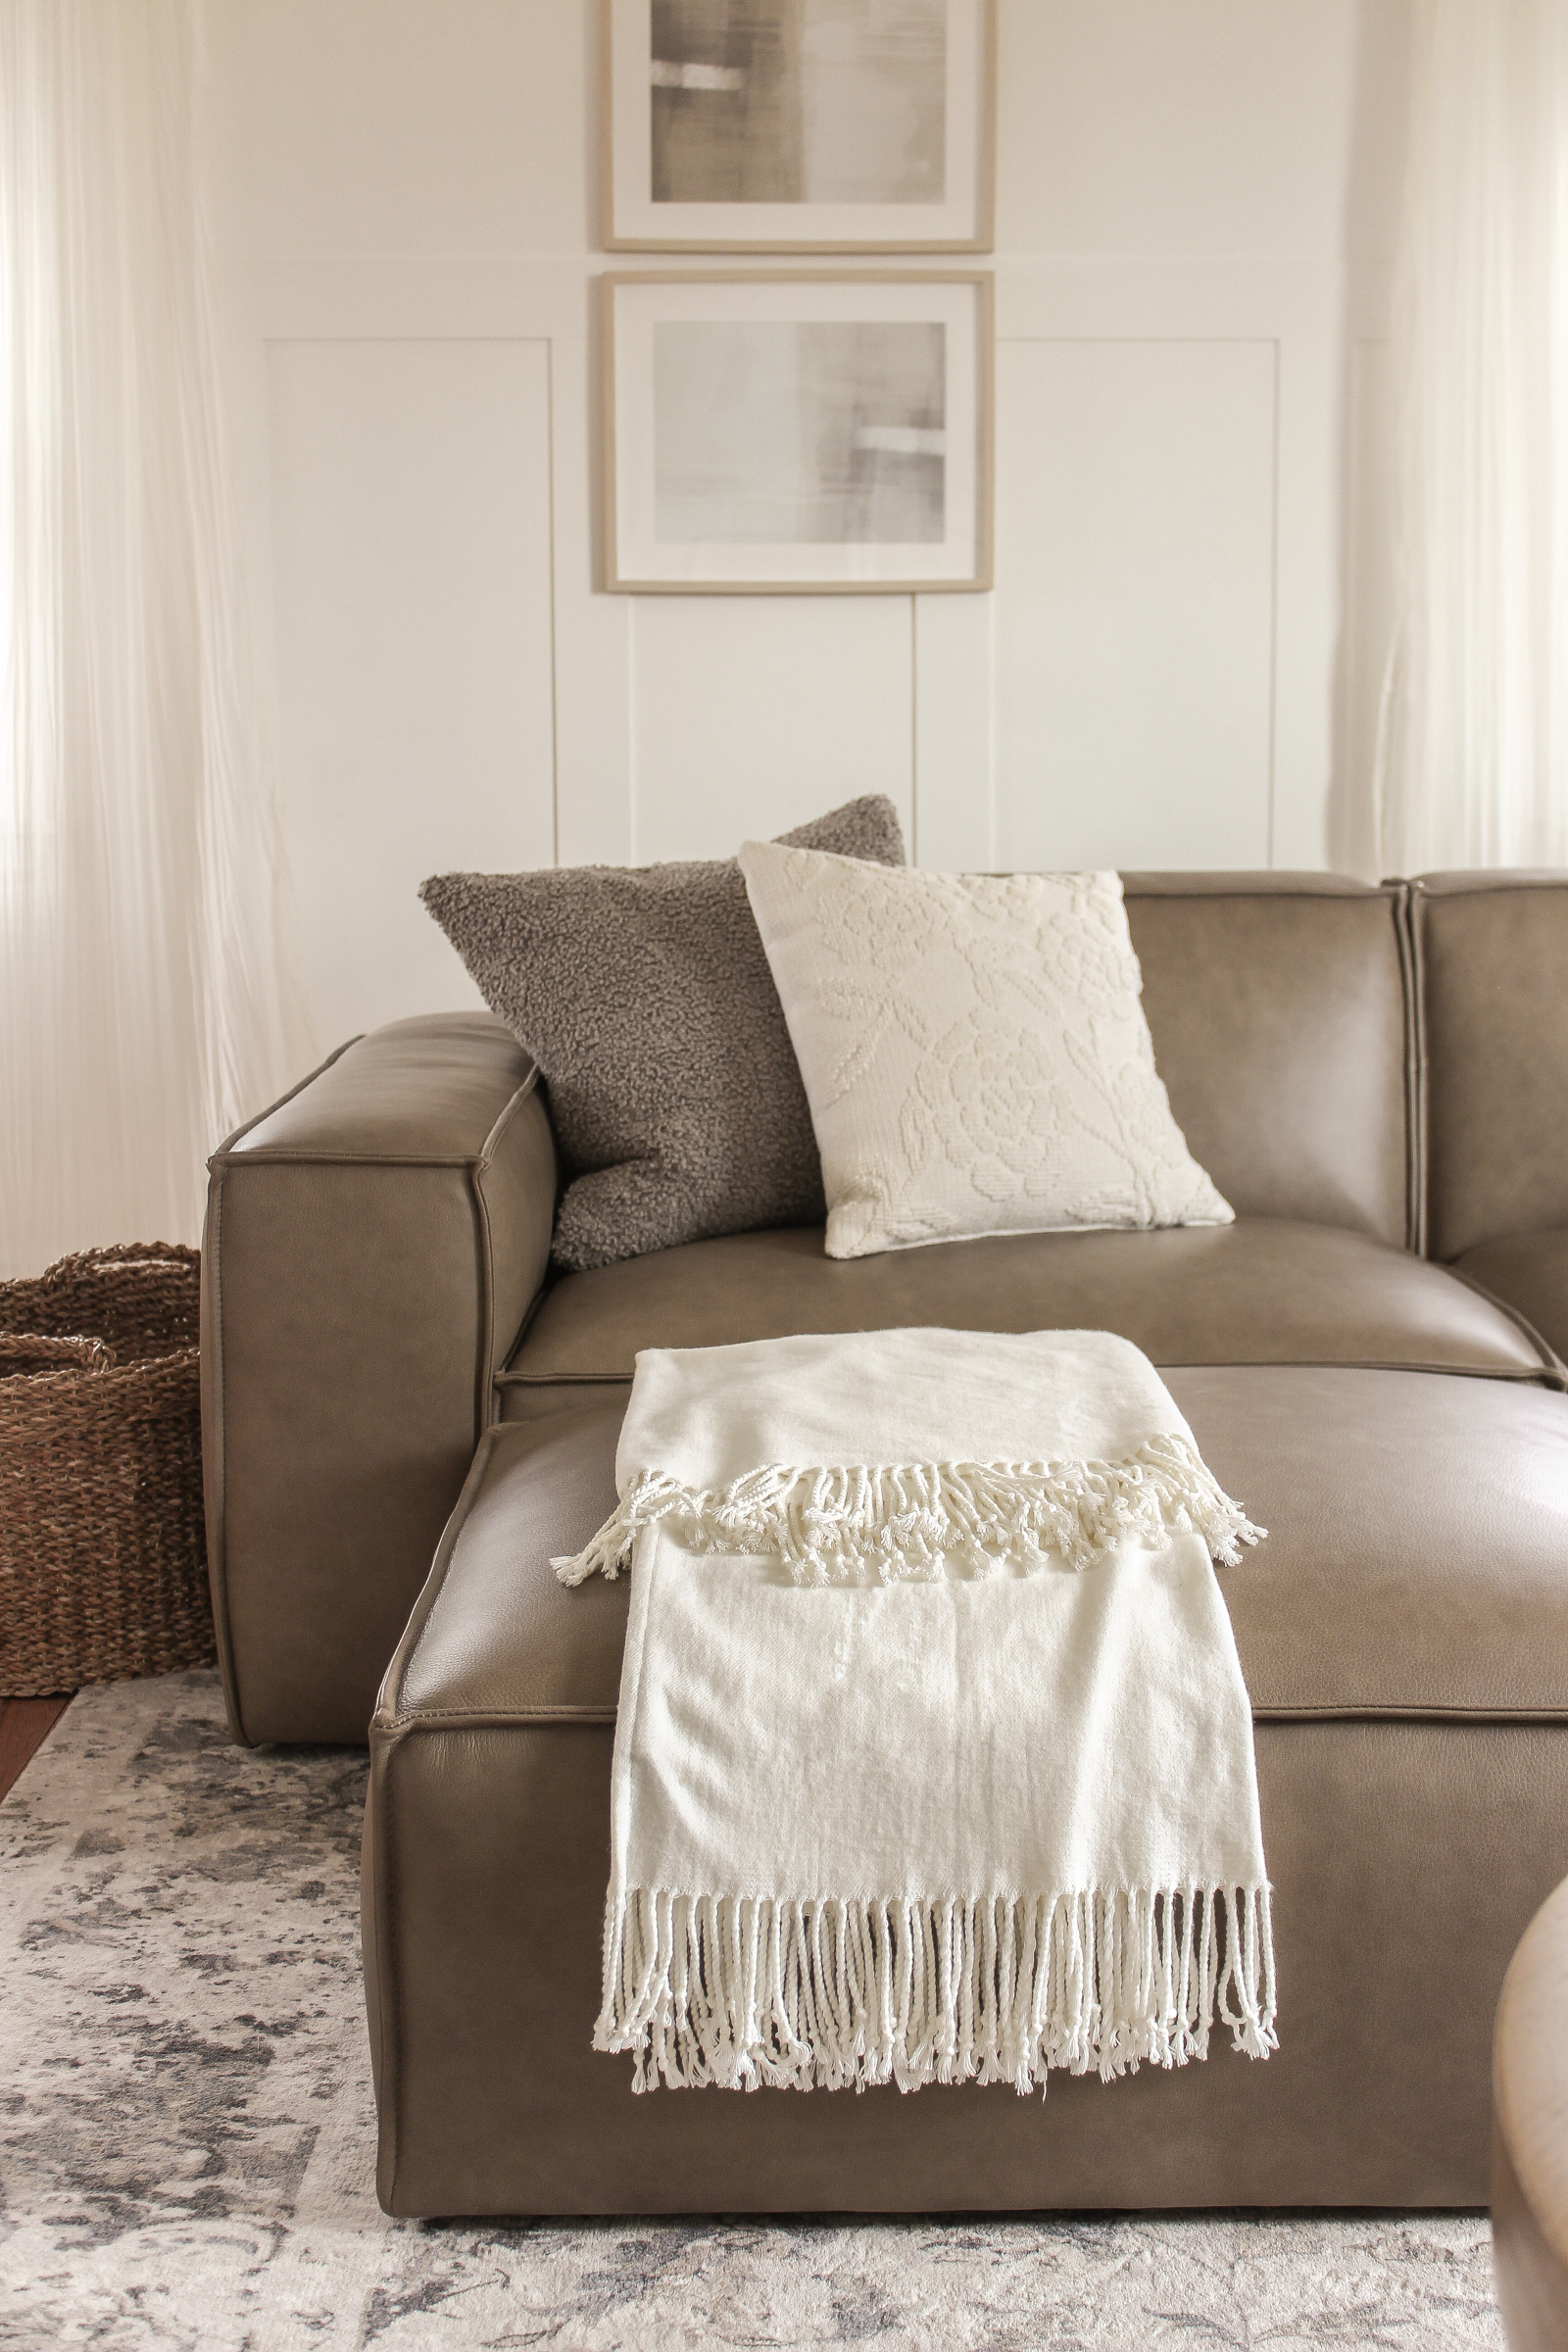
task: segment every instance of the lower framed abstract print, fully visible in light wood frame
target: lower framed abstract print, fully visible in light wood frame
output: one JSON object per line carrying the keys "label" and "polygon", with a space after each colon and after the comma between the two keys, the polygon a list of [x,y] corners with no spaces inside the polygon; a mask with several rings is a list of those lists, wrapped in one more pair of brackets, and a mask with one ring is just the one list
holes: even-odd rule
{"label": "lower framed abstract print, fully visible in light wood frame", "polygon": [[990,270],[611,270],[599,287],[607,588],[990,588]]}

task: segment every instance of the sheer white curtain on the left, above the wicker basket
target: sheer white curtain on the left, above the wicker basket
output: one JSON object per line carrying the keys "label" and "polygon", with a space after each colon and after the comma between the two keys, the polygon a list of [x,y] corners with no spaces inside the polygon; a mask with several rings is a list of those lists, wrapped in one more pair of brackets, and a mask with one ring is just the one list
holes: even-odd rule
{"label": "sheer white curtain on the left, above the wicker basket", "polygon": [[0,1275],[195,1240],[301,1075],[197,0],[0,0]]}

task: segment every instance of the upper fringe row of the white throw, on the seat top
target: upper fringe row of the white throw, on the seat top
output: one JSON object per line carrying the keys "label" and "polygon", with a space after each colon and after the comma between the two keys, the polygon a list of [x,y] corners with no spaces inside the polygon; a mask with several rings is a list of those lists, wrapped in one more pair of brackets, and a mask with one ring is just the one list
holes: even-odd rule
{"label": "upper fringe row of the white throw, on the seat top", "polygon": [[931,1583],[950,1564],[1093,1569],[1119,1543],[1201,1536],[1227,1566],[1258,1543],[1239,1503],[1180,1435],[1150,1437],[1119,1463],[900,1463],[882,1470],[792,1470],[766,1463],[733,1486],[682,1486],[642,1470],[576,1557],[552,1559],[564,1585],[630,1564],[644,1526],[668,1526],[689,1552],[783,1559],[797,1585]]}

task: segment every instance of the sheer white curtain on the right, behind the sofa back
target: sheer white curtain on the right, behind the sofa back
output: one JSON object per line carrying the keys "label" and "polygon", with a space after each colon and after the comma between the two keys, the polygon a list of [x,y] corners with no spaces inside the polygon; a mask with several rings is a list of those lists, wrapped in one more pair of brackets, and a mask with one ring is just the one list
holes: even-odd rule
{"label": "sheer white curtain on the right, behind the sofa back", "polygon": [[1385,873],[1568,866],[1568,0],[1415,0]]}

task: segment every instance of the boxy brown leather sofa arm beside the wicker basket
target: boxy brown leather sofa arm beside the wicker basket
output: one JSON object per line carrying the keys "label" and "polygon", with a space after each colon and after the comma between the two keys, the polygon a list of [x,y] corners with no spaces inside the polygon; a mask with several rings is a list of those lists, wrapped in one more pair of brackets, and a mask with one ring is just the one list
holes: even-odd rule
{"label": "boxy brown leather sofa arm beside the wicker basket", "polygon": [[214,1152],[202,1468],[235,1738],[364,1743],[550,1256],[555,1141],[489,1014],[397,1021]]}

